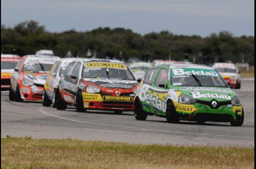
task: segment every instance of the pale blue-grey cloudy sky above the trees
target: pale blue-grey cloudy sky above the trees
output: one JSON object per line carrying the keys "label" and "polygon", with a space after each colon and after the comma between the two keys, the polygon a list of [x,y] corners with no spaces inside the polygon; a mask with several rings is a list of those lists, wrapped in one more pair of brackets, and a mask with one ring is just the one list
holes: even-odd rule
{"label": "pale blue-grey cloudy sky above the trees", "polygon": [[254,36],[254,0],[1,0],[1,25],[36,20],[47,31],[124,27],[145,34]]}

